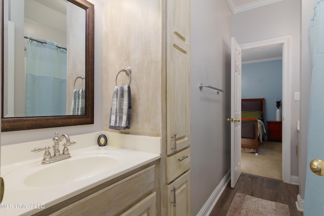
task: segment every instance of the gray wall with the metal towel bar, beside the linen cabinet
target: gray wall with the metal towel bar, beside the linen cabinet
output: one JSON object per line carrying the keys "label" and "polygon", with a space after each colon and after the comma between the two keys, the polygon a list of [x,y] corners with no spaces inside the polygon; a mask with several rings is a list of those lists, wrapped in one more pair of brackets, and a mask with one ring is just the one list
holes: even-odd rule
{"label": "gray wall with the metal towel bar, beside the linen cabinet", "polygon": [[[230,169],[230,39],[226,0],[191,0],[191,209],[196,215]],[[199,90],[204,85],[224,89]]]}

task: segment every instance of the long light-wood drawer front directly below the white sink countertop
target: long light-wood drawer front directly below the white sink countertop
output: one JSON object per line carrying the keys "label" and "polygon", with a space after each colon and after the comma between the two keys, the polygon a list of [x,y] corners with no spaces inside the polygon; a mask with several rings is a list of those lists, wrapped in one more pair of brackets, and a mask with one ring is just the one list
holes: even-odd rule
{"label": "long light-wood drawer front directly below the white sink countertop", "polygon": [[51,215],[119,215],[155,188],[155,165],[80,199]]}

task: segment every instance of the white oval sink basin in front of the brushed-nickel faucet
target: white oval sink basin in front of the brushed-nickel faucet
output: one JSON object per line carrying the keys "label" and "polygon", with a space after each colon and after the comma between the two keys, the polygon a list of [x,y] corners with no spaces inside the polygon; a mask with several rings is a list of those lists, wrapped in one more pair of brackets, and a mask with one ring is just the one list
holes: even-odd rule
{"label": "white oval sink basin in front of the brushed-nickel faucet", "polygon": [[114,158],[107,156],[66,159],[42,165],[44,168],[27,176],[24,184],[28,187],[53,187],[82,181],[107,171],[116,163]]}

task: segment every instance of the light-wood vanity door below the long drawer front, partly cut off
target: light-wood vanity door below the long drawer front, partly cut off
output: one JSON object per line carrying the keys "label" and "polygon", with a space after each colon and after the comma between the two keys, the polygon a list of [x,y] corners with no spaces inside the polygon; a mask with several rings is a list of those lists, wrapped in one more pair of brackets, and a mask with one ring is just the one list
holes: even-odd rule
{"label": "light-wood vanity door below the long drawer front, partly cut off", "polygon": [[120,216],[154,216],[156,215],[156,193],[153,192]]}

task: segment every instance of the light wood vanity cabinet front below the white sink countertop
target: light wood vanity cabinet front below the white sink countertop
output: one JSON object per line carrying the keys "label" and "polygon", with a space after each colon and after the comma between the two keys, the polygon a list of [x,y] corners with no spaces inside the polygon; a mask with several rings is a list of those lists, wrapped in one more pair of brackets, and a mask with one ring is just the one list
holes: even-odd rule
{"label": "light wood vanity cabinet front below the white sink countertop", "polygon": [[154,161],[35,215],[156,215],[155,169]]}

